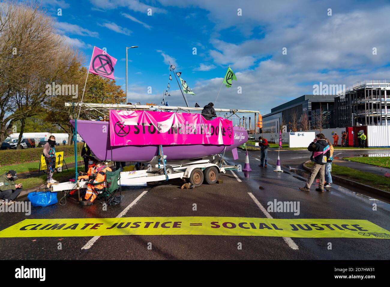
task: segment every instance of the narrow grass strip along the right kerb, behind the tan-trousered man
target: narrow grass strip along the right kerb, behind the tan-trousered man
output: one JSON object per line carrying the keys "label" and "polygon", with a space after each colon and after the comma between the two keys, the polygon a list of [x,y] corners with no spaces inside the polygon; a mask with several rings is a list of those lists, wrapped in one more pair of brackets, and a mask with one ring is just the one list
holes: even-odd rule
{"label": "narrow grass strip along the right kerb, behind the tan-trousered man", "polygon": [[[308,167],[313,167],[314,163],[308,163]],[[353,181],[360,182],[372,186],[374,188],[379,188],[380,190],[390,191],[390,178],[383,175],[372,174],[371,172],[362,172],[356,170],[355,168],[342,167],[340,165],[332,164],[332,175],[338,175],[346,179],[351,179]]]}

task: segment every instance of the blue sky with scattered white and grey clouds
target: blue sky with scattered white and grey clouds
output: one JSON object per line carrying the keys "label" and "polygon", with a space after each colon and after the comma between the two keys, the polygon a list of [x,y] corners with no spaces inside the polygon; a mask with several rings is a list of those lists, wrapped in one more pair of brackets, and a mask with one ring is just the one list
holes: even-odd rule
{"label": "blue sky with scattered white and grey clouds", "polygon": [[[390,79],[387,1],[45,0],[43,6],[58,33],[83,51],[86,66],[93,46],[106,47],[118,59],[114,74],[123,89],[125,47],[139,46],[128,50],[132,103],[161,102],[168,60],[196,94],[187,97],[190,106],[215,101],[230,64],[238,80],[230,89],[222,87],[216,107],[263,115],[312,94],[320,81],[348,86]],[[185,105],[175,80],[169,92],[171,106]]]}

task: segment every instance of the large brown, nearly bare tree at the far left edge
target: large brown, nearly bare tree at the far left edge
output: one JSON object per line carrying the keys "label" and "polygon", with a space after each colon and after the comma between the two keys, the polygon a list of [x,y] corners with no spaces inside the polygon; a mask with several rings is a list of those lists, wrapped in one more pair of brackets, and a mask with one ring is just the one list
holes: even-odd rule
{"label": "large brown, nearly bare tree at the far left edge", "polygon": [[[12,126],[37,115],[47,99],[45,86],[57,80],[73,51],[35,2],[0,5],[0,142]],[[23,133],[21,125],[21,133]]]}

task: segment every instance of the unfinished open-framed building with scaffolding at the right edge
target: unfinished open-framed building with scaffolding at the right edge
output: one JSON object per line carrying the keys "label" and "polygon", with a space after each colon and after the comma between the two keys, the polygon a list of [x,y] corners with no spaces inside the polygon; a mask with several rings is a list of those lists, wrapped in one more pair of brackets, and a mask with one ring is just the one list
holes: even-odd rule
{"label": "unfinished open-framed building with scaffolding at the right edge", "polygon": [[335,97],[335,127],[390,125],[390,81],[365,80]]}

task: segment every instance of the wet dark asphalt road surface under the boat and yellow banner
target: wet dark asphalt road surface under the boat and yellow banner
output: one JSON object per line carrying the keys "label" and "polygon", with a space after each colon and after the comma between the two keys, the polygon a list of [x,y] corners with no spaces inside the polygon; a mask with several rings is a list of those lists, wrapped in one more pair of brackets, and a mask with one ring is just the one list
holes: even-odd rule
{"label": "wet dark asphalt road surface under the boat and yellow banner", "polygon": [[[356,152],[355,152],[356,153]],[[284,151],[285,162],[298,165],[308,152]],[[244,165],[245,153],[234,161],[226,155],[228,163]],[[82,207],[73,200],[66,206],[33,207],[32,214],[1,213],[0,229],[26,218],[110,218],[116,217],[132,202],[124,213],[131,216],[231,216],[259,217],[266,215],[259,208],[267,202],[299,201],[300,214],[269,213],[273,218],[332,218],[365,219],[390,230],[390,207],[385,202],[356,194],[333,185],[330,191],[298,190],[305,179],[285,169],[273,172],[277,152],[269,151],[271,165],[260,168],[259,152],[250,152],[252,172],[227,171],[220,179],[223,184],[206,185],[193,190],[181,190],[182,181],[148,188],[127,188],[119,206],[102,210],[100,204]],[[259,189],[262,186],[262,190]],[[145,192],[146,191],[146,192]],[[252,196],[250,194],[252,194]],[[135,200],[137,202],[134,204]],[[197,211],[193,211],[193,204]],[[372,203],[378,210],[372,210]],[[2,238],[0,259],[390,259],[390,241],[385,239],[355,238],[292,238],[257,236],[102,236],[92,237],[37,237]],[[238,250],[238,243],[242,250]],[[62,249],[58,250],[58,243]],[[147,248],[148,243],[152,249]],[[332,243],[332,250],[328,250]],[[89,247],[88,249],[85,246]]]}

